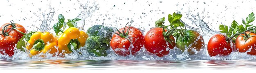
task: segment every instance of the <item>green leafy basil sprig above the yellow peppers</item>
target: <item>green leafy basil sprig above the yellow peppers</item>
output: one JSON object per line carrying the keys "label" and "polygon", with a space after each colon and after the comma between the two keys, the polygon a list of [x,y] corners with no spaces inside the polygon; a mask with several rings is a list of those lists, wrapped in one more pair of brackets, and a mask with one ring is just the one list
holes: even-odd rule
{"label": "green leafy basil sprig above the yellow peppers", "polygon": [[81,19],[79,18],[74,18],[72,20],[67,19],[68,22],[65,22],[65,18],[62,14],[58,15],[58,22],[56,24],[54,24],[53,29],[54,32],[56,33],[56,35],[60,35],[63,33],[63,31],[66,29],[66,27],[68,26],[70,27],[76,27],[77,28],[77,23],[76,21],[79,21]]}

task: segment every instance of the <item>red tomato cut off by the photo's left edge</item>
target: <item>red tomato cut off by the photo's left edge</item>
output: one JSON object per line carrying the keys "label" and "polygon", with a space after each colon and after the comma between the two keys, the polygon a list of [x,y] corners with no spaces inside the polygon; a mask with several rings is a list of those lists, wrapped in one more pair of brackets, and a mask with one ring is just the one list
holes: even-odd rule
{"label": "red tomato cut off by the photo's left edge", "polygon": [[14,54],[13,49],[15,44],[17,44],[20,38],[26,33],[26,30],[20,24],[6,23],[0,27],[0,33],[0,50],[3,50],[0,51],[0,53],[6,53],[7,55],[12,56]]}

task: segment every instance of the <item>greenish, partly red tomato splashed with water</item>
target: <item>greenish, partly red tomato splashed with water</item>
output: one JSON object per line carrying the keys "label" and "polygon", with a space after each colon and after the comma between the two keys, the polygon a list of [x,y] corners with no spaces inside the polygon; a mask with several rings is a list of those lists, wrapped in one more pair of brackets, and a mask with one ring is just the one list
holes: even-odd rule
{"label": "greenish, partly red tomato splashed with water", "polygon": [[191,47],[189,47],[187,51],[190,54],[194,54],[193,49],[195,49],[196,51],[200,51],[200,49],[202,49],[202,47],[204,46],[204,39],[202,38],[202,36],[200,36],[199,38],[199,36],[200,34],[197,31],[186,30],[184,36],[180,35],[177,38],[176,46],[184,52],[185,46],[189,47],[189,45],[191,45]]}

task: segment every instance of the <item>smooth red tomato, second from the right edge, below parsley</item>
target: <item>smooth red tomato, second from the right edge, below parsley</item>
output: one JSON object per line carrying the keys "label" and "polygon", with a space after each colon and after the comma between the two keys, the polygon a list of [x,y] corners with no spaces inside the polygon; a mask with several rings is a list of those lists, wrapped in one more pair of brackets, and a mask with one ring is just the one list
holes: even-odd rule
{"label": "smooth red tomato, second from the right edge, below parsley", "polygon": [[[232,48],[235,47],[233,46]],[[230,42],[227,42],[225,36],[222,34],[213,35],[207,44],[207,51],[211,57],[218,54],[229,55],[232,52],[232,48]]]}

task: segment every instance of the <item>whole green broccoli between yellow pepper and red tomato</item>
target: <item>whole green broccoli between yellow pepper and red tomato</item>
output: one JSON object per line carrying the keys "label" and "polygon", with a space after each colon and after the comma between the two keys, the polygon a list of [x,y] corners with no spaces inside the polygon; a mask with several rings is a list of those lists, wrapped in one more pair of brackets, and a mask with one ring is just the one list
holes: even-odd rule
{"label": "whole green broccoli between yellow pepper and red tomato", "polygon": [[106,56],[106,50],[110,49],[110,40],[113,29],[102,25],[94,25],[87,30],[90,37],[86,40],[85,46],[92,56]]}

